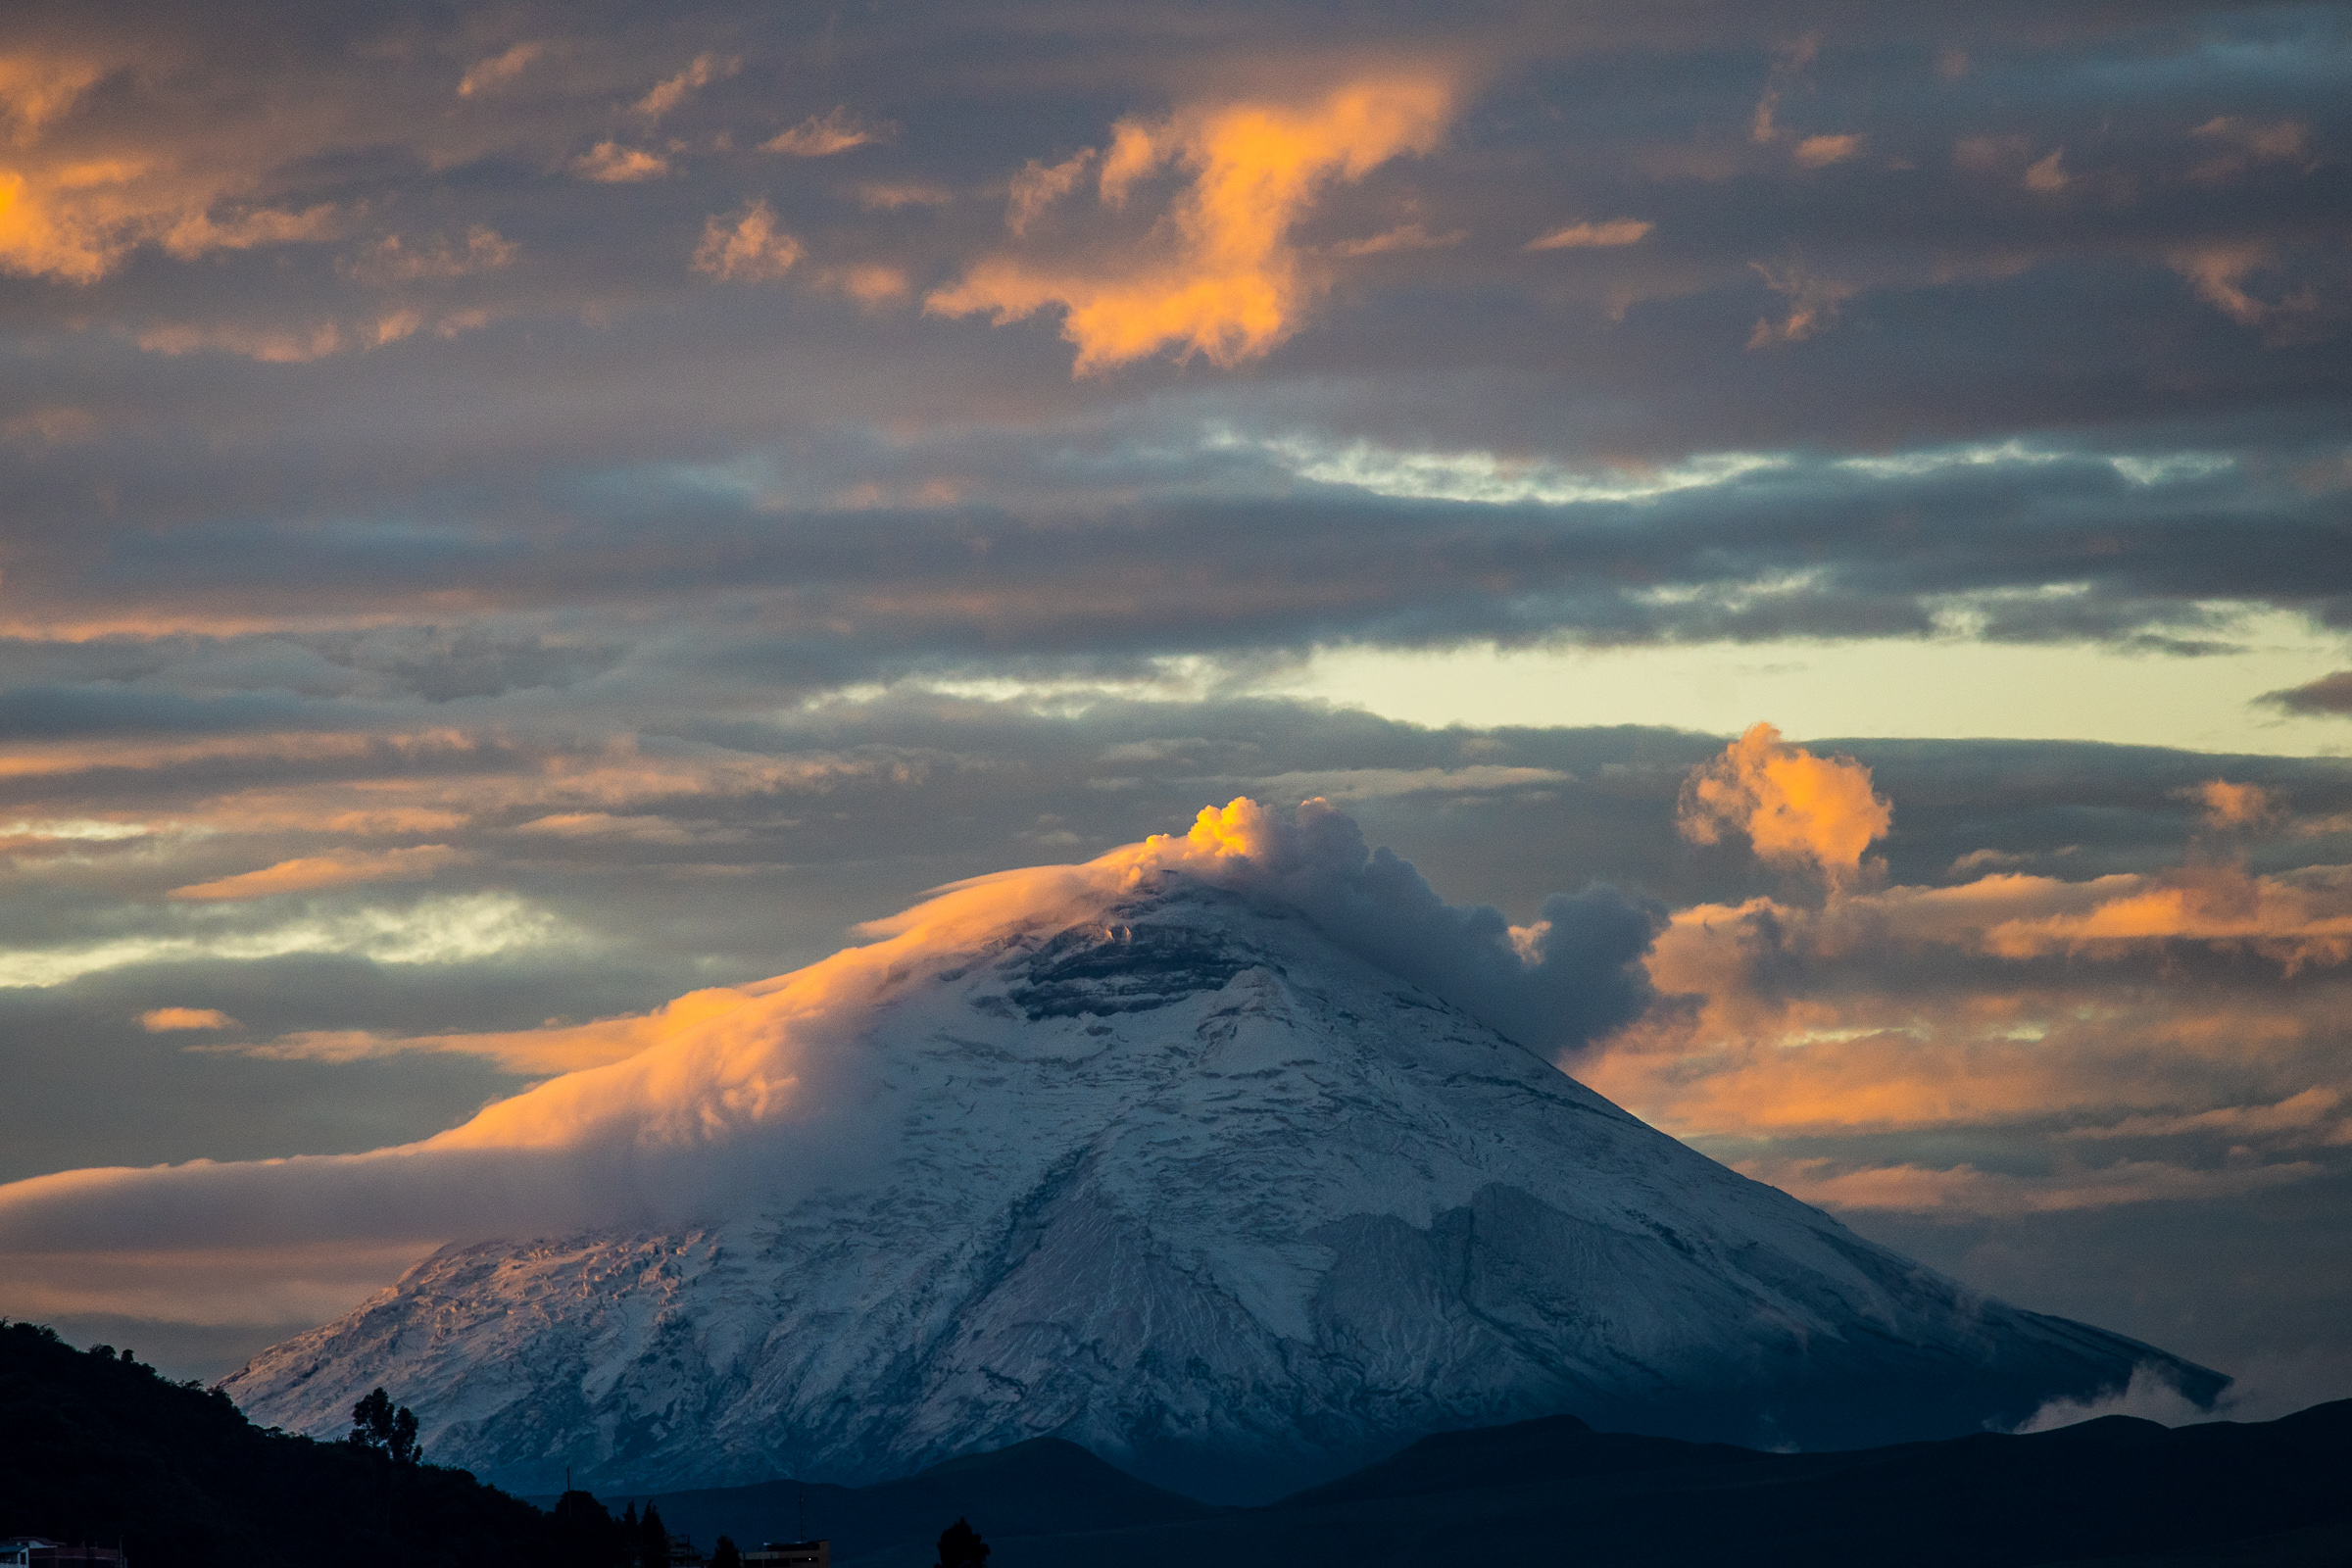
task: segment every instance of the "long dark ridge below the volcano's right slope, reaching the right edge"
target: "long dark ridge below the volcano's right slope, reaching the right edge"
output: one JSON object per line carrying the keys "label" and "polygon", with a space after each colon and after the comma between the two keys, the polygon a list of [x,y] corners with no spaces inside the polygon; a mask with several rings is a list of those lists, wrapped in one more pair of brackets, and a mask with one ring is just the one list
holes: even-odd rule
{"label": "long dark ridge below the volcano's right slope, reaching the right edge", "polygon": [[1423,1439],[1265,1509],[1014,1540],[997,1568],[2034,1568],[2133,1554],[2150,1568],[2251,1568],[2343,1563],[2328,1537],[2343,1540],[2345,1523],[2352,1401],[2263,1425],[2105,1418],[2034,1436],[1790,1455],[1538,1420]]}

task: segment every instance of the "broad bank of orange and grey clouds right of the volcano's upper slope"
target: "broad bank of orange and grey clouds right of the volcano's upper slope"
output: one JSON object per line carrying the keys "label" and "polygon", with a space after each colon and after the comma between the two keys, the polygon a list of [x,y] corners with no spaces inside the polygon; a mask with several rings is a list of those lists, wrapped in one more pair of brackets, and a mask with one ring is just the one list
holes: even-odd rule
{"label": "broad bank of orange and grey clouds right of the volcano's upper slope", "polygon": [[[2310,1175],[2281,1152],[2352,1143],[2347,917],[2347,867],[1997,875],[1818,910],[1698,905],[1646,957],[1668,1001],[1571,1067],[1682,1138],[1809,1140],[1802,1159],[1755,1154],[1743,1168],[1825,1206],[2032,1213],[2230,1197]],[[2185,990],[2107,969],[2180,947],[2253,952],[2279,971]],[[2051,954],[2100,964],[2027,969]],[[2058,1152],[2171,1138],[2234,1154],[2216,1168],[2133,1152],[2051,1178],[1820,1154],[1823,1140],[1924,1131],[1999,1131]]]}

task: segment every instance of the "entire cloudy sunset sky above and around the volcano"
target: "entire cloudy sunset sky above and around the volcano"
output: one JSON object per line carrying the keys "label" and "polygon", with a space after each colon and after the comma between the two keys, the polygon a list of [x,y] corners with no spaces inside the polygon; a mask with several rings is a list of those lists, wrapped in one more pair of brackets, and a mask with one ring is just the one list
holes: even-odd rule
{"label": "entire cloudy sunset sky above and around the volcano", "polygon": [[[1319,795],[1646,910],[1656,1126],[2352,1394],[2343,7],[40,7],[0,357],[0,1182]],[[64,1190],[0,1312],[181,1375],[445,1234]]]}

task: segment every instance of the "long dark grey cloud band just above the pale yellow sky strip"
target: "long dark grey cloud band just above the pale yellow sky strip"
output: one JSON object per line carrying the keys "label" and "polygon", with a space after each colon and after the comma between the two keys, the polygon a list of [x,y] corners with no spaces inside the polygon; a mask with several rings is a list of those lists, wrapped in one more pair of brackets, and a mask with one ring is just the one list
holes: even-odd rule
{"label": "long dark grey cloud band just above the pale yellow sky strip", "polygon": [[[1348,461],[1315,458],[1322,482],[1256,463],[1247,477],[1270,491],[1258,496],[1049,512],[774,512],[701,480],[628,473],[550,496],[572,503],[562,522],[485,515],[522,498],[482,498],[466,531],[191,522],[113,559],[28,564],[16,581],[52,616],[101,623],[374,621],[452,599],[499,604],[456,625],[285,632],[275,642],[289,646],[242,672],[226,646],[212,654],[216,679],[235,684],[369,696],[407,682],[437,698],[680,661],[826,689],[1007,658],[1080,670],[1122,656],[1472,639],[1964,635],[2197,654],[2237,646],[2246,609],[2352,623],[2340,494],[2305,494],[2241,461],[2166,473],[2133,454],[1959,449],[1856,473],[1853,458],[1788,458],[1653,496],[1562,503],[1376,494],[1331,473]],[[882,463],[866,473],[889,482]],[[621,625],[630,630],[616,635]],[[301,668],[296,649],[341,675]],[[99,656],[120,668],[129,649],[49,661]],[[21,649],[9,663],[31,661]]]}

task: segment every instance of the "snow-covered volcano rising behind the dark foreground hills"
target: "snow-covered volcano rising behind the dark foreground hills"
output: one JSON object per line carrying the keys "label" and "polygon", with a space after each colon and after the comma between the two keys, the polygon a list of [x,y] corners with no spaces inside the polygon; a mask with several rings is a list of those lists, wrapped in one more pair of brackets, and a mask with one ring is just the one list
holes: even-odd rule
{"label": "snow-covered volcano rising behind the dark foreground hills", "polygon": [[[668,1128],[717,1173],[699,1218],[449,1246],[228,1392],[329,1434],[383,1385],[437,1462],[529,1490],[873,1481],[1058,1434],[1240,1500],[1559,1410],[1844,1446],[2147,1361],[2218,1389],[1621,1112],[1397,973],[1442,931],[1367,957],[1341,903],[1270,875],[1317,818],[1263,816],[1240,849],[1195,830],[948,893],[517,1098],[546,1100],[532,1126],[635,1098],[637,1145]],[[1571,914],[1496,940],[1569,961]],[[1604,985],[1628,954],[1592,940]]]}

